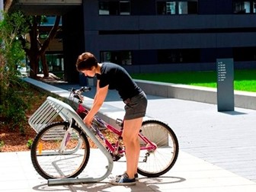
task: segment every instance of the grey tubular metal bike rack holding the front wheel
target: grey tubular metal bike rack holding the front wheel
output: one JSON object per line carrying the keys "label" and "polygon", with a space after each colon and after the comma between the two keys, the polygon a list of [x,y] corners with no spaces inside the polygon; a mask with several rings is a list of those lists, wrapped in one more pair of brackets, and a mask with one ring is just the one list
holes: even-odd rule
{"label": "grey tubular metal bike rack holding the front wheel", "polygon": [[101,144],[94,133],[85,126],[85,123],[81,117],[76,114],[75,110],[69,105],[56,98],[48,97],[46,101],[34,112],[34,114],[29,118],[28,123],[31,127],[38,133],[48,124],[52,123],[57,116],[62,117],[64,121],[75,120],[78,126],[82,127],[82,130],[91,138],[91,140],[98,146],[98,148],[107,157],[108,166],[106,173],[99,178],[58,178],[49,179],[48,185],[62,185],[62,184],[83,184],[83,183],[94,183],[102,181],[110,175],[113,169],[113,158],[107,149]]}

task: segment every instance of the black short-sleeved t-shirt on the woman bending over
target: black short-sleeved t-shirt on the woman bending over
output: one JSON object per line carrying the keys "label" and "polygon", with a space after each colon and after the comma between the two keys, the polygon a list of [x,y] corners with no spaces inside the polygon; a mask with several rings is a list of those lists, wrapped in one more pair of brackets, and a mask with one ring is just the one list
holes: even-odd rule
{"label": "black short-sleeved t-shirt on the woman bending over", "polygon": [[96,76],[100,81],[100,88],[109,85],[109,89],[116,89],[118,91],[123,101],[127,98],[133,98],[142,91],[123,67],[111,62],[103,62],[101,74]]}

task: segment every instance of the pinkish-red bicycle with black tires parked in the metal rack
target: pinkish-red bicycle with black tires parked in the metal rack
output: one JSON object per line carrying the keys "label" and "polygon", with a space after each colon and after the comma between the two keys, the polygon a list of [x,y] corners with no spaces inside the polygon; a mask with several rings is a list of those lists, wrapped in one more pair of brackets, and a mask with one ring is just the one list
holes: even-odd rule
{"label": "pinkish-red bicycle with black tires parked in the metal rack", "polygon": [[[82,103],[82,93],[91,88],[82,87],[77,90],[72,88],[69,101],[72,108],[83,119],[88,114]],[[75,98],[78,103],[75,103]],[[75,106],[77,104],[77,106]],[[46,110],[46,109],[43,109]],[[58,109],[55,109],[58,110]],[[44,117],[49,119],[47,112]],[[113,158],[118,161],[125,155],[122,142],[123,120],[117,119],[120,129],[106,123],[100,117],[95,116],[91,123],[91,131],[101,139],[105,148]],[[112,133],[114,142],[110,142],[104,131]],[[113,138],[112,138],[113,139]],[[149,178],[155,178],[168,172],[178,158],[178,139],[166,123],[159,120],[144,120],[139,131],[140,154],[138,173]],[[30,149],[31,161],[35,170],[43,178],[75,178],[88,163],[90,145],[88,136],[75,120],[58,120],[43,127],[34,138]],[[66,165],[69,165],[68,168]]]}

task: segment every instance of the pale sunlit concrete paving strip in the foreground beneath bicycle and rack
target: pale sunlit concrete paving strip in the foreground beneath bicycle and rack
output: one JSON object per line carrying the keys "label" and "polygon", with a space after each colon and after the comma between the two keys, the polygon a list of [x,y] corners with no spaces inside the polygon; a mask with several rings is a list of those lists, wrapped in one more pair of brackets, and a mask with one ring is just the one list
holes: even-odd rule
{"label": "pale sunlit concrete paving strip in the foreground beneath bicycle and rack", "polygon": [[[98,149],[91,150],[87,167],[79,178],[101,177],[106,161]],[[30,152],[0,153],[0,191],[255,191],[256,183],[205,162],[181,150],[178,161],[167,174],[159,178],[139,175],[136,186],[124,187],[110,184],[110,180],[125,171],[125,159],[114,162],[114,169],[104,181],[92,184],[48,186],[47,181],[34,171]]]}

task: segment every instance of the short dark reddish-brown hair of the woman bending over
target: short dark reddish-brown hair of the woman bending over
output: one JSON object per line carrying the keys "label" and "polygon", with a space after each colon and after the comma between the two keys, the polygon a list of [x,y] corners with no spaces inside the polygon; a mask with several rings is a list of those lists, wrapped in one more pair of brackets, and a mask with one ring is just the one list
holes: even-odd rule
{"label": "short dark reddish-brown hair of the woman bending over", "polygon": [[92,53],[89,52],[82,53],[80,56],[78,56],[78,59],[75,63],[78,72],[82,70],[91,70],[93,66],[97,67],[97,65],[98,60]]}

